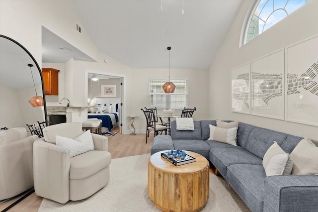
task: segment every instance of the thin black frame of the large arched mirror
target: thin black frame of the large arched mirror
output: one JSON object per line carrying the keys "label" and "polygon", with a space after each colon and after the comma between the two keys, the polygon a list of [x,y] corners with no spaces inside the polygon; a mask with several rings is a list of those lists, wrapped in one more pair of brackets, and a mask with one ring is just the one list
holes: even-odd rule
{"label": "thin black frame of the large arched mirror", "polygon": [[[5,35],[1,35],[0,34],[0,37],[2,38],[5,38],[5,39],[8,39],[10,41],[12,41],[13,43],[15,43],[16,45],[18,45],[19,47],[21,47],[30,57],[31,59],[33,60],[35,66],[37,67],[38,71],[39,71],[39,74],[40,74],[40,77],[41,77],[41,82],[42,82],[42,94],[43,94],[43,103],[44,103],[44,119],[45,119],[45,126],[48,126],[48,118],[47,118],[47,111],[46,111],[46,100],[45,100],[45,91],[44,91],[44,81],[43,81],[43,75],[42,75],[42,71],[40,69],[40,66],[39,64],[36,62],[35,58],[33,57],[33,55],[24,47],[22,46],[19,42],[13,40],[12,38],[10,37],[7,37]],[[22,201],[24,198],[26,198],[27,196],[29,196],[30,194],[32,194],[34,192],[34,187],[27,190],[27,191],[24,191],[22,192],[21,194],[19,195],[16,195],[15,197],[12,197],[10,199],[14,199],[14,198],[18,198],[16,201],[14,201],[11,205],[9,205],[7,208],[5,208],[2,212],[5,212],[7,210],[9,210],[10,208],[12,208],[13,206],[15,206],[16,204],[18,204],[20,201]]]}

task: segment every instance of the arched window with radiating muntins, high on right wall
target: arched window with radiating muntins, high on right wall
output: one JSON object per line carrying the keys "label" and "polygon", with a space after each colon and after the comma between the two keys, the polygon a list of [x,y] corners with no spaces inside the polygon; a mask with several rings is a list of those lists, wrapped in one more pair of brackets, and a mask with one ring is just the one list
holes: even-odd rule
{"label": "arched window with radiating muntins, high on right wall", "polygon": [[257,0],[245,25],[243,45],[310,0]]}

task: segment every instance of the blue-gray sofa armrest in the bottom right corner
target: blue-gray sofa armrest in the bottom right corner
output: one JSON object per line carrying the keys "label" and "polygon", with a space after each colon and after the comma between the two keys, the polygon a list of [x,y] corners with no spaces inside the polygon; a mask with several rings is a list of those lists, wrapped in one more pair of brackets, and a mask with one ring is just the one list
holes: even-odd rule
{"label": "blue-gray sofa armrest in the bottom right corner", "polygon": [[314,212],[318,175],[280,175],[264,180],[264,212]]}

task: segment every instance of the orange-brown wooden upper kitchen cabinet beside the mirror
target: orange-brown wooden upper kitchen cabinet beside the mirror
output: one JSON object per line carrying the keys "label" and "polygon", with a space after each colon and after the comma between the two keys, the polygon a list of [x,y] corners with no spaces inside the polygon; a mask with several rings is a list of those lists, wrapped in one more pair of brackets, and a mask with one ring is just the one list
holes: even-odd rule
{"label": "orange-brown wooden upper kitchen cabinet beside the mirror", "polygon": [[59,70],[42,69],[45,95],[59,95]]}

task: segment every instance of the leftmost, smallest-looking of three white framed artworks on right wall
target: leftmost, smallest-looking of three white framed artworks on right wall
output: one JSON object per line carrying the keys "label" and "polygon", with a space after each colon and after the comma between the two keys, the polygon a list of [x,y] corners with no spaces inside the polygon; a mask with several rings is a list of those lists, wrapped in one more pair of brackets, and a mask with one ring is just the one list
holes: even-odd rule
{"label": "leftmost, smallest-looking of three white framed artworks on right wall", "polygon": [[231,71],[231,111],[250,114],[250,63]]}

